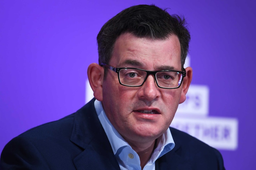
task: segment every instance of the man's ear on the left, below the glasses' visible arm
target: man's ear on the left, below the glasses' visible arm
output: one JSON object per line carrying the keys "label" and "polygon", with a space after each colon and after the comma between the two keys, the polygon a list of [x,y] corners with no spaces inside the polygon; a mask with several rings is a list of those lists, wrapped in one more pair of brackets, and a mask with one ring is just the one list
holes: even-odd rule
{"label": "man's ear on the left, below the glasses' visible arm", "polygon": [[98,101],[102,101],[102,82],[104,77],[104,68],[97,63],[92,63],[87,69],[87,75],[93,95]]}

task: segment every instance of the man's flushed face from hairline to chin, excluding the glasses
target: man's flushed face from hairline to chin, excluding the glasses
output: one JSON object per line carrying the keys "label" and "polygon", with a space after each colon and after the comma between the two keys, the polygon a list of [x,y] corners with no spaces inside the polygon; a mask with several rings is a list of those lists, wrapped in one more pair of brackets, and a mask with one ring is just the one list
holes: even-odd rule
{"label": "man's flushed face from hairline to chin, excluding the glasses", "polygon": [[[181,71],[180,56],[176,35],[163,41],[125,33],[116,40],[109,65],[151,71],[173,67]],[[128,143],[149,142],[170,126],[181,91],[182,85],[177,89],[157,87],[153,75],[140,87],[120,85],[117,73],[108,70],[102,85],[102,105],[110,122]]]}

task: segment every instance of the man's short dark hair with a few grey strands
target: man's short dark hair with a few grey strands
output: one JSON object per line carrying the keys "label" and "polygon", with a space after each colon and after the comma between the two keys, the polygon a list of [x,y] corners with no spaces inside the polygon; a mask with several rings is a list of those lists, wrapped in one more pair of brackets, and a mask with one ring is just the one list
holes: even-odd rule
{"label": "man's short dark hair with a few grey strands", "polygon": [[160,40],[177,35],[181,46],[181,67],[184,66],[190,41],[184,17],[170,15],[155,5],[136,5],[124,9],[106,22],[99,31],[99,64],[109,64],[116,39],[123,33]]}

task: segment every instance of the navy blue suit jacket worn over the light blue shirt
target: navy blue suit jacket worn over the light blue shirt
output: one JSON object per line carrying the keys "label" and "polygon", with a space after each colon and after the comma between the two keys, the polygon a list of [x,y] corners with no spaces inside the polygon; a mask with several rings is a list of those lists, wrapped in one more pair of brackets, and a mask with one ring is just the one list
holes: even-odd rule
{"label": "navy blue suit jacket worn over the light blue shirt", "polygon": [[[32,128],[3,149],[0,169],[114,170],[118,162],[91,100],[77,112]],[[218,150],[170,128],[175,147],[159,158],[159,170],[222,170]]]}

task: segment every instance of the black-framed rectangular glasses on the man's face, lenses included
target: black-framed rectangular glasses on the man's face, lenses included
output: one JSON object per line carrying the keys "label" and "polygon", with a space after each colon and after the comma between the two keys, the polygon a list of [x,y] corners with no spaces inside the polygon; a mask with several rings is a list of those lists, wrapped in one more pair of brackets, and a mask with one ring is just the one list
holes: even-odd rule
{"label": "black-framed rectangular glasses on the man's face, lenses included", "polygon": [[116,72],[119,83],[130,87],[142,86],[148,75],[154,75],[159,88],[175,89],[181,86],[182,80],[186,76],[185,69],[184,72],[176,70],[149,71],[130,67],[115,68],[105,63],[101,63],[100,66]]}

